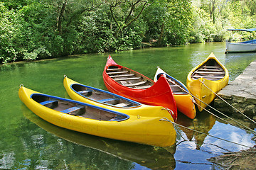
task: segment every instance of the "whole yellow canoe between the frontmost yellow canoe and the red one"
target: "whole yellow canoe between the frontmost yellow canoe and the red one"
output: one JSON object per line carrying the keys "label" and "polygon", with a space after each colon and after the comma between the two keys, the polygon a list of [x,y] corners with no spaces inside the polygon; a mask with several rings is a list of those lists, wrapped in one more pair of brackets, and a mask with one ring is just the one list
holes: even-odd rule
{"label": "whole yellow canoe between the frontmost yellow canoe and the red one", "polygon": [[162,106],[149,106],[124,98],[109,91],[103,91],[94,87],[85,86],[68,77],[63,80],[70,98],[75,101],[89,103],[112,111],[119,111],[127,115],[139,115],[146,117],[165,117],[173,121],[173,118]]}

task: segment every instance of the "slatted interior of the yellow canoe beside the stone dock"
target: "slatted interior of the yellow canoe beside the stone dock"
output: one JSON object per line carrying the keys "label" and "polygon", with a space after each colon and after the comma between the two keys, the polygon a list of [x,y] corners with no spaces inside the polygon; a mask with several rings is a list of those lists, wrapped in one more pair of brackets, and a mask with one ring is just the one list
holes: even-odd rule
{"label": "slatted interior of the yellow canoe beside the stone dock", "polygon": [[225,70],[214,59],[210,59],[191,74],[192,79],[199,79],[201,77],[212,81],[223,79],[225,77]]}

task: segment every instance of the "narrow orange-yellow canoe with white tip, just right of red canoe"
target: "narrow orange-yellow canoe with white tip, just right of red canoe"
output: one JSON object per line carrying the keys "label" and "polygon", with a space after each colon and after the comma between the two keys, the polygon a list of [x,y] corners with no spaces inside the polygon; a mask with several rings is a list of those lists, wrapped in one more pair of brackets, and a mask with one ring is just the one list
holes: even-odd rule
{"label": "narrow orange-yellow canoe with white tip, just right of red canoe", "polygon": [[188,118],[195,118],[196,108],[193,103],[193,97],[188,94],[188,89],[186,86],[181,83],[181,81],[178,81],[177,79],[174,79],[174,77],[171,77],[169,74],[166,74],[166,72],[164,72],[164,70],[162,70],[160,67],[158,67],[156,70],[154,81],[157,81],[162,74],[166,75],[166,79],[171,87],[171,90],[173,91],[178,111],[188,116]]}

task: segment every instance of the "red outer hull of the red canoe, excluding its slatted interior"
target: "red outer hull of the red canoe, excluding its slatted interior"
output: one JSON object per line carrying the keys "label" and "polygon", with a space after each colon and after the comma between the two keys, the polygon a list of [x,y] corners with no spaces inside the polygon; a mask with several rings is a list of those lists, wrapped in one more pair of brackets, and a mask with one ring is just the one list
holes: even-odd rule
{"label": "red outer hull of the red canoe, excluding its slatted interior", "polygon": [[[171,113],[172,117],[174,118],[174,120],[176,120],[177,118],[176,103],[175,103],[171,88],[169,86],[169,83],[165,77],[160,77],[159,80],[156,81],[156,83],[154,83],[154,85],[149,87],[148,89],[132,89],[127,86],[122,86],[121,84],[117,83],[117,81],[114,81],[114,79],[112,79],[107,74],[106,70],[110,66],[117,66],[119,68],[128,69],[127,67],[122,67],[116,62],[114,62],[114,60],[112,60],[112,57],[110,56],[108,57],[107,63],[105,65],[105,69],[103,71],[103,80],[104,80],[105,86],[110,92],[114,94],[118,94],[120,96],[131,98],[134,101],[138,101],[140,103],[144,103],[147,105],[164,106],[165,108],[169,108],[173,112]],[[135,72],[133,70],[131,71]],[[139,74],[138,72],[135,72],[135,73]],[[142,74],[140,74],[140,76],[146,79],[149,79]],[[149,80],[152,81],[151,79]]]}

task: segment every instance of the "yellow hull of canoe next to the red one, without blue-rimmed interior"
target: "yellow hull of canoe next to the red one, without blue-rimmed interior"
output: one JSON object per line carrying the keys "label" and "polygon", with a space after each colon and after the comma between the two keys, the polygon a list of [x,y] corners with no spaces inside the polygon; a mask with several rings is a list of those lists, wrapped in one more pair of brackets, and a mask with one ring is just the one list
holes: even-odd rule
{"label": "yellow hull of canoe next to the red one, without blue-rimmed interior", "polygon": [[110,106],[104,103],[100,103],[97,101],[93,101],[90,98],[86,98],[85,96],[81,96],[77,94],[73,89],[70,88],[72,84],[80,84],[76,81],[73,81],[72,79],[69,79],[68,77],[65,77],[63,80],[63,84],[65,87],[65,90],[68,92],[68,95],[70,98],[72,98],[75,101],[81,101],[83,103],[89,103],[95,106],[99,106],[102,108],[107,108],[112,111],[118,111],[121,113],[125,113],[127,115],[137,115],[137,116],[146,116],[146,117],[162,117],[162,118],[168,118],[171,121],[174,121],[171,117],[171,114],[164,109],[162,106],[149,106],[142,104],[141,106],[132,107],[132,108],[124,108],[124,107],[115,107]]}

